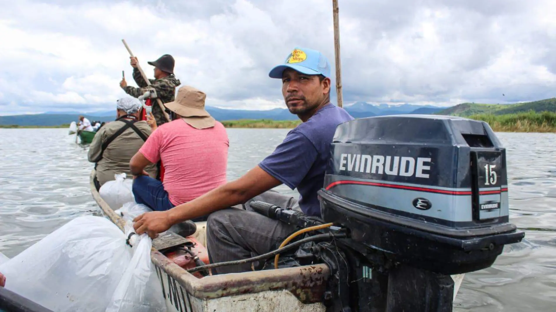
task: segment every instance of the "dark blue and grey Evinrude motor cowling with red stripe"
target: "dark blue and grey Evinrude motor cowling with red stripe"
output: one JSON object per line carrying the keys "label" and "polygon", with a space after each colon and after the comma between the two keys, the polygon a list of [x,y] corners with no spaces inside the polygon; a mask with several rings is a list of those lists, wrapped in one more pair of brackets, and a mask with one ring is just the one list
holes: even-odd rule
{"label": "dark blue and grey Evinrude motor cowling with red stripe", "polygon": [[393,115],[340,124],[321,215],[390,259],[440,274],[492,265],[509,223],[506,153],[485,122]]}

